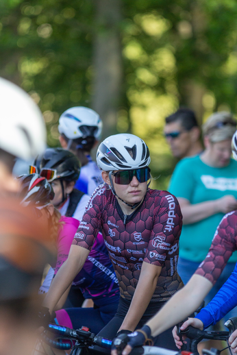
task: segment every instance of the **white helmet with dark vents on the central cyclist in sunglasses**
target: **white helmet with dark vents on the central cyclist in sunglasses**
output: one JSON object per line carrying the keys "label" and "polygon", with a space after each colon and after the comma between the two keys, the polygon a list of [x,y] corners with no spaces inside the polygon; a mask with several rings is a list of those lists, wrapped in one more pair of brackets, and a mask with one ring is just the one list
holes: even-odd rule
{"label": "white helmet with dark vents on the central cyclist in sunglasses", "polygon": [[97,149],[97,165],[104,171],[140,169],[150,162],[146,143],[134,134],[114,134]]}

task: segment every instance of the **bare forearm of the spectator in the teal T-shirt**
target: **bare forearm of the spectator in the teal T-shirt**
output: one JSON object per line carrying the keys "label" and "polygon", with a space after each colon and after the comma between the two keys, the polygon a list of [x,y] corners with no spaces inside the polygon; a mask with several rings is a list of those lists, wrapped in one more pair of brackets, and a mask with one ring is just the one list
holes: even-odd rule
{"label": "bare forearm of the spectator in the teal T-shirt", "polygon": [[180,206],[184,225],[202,221],[218,212],[216,210],[216,201],[205,201],[200,204],[187,205],[181,203]]}

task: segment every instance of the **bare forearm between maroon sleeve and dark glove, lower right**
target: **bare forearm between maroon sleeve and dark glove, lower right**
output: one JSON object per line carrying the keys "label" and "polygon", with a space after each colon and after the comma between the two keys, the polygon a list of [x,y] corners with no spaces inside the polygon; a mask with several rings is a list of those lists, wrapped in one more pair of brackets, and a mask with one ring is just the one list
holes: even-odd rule
{"label": "bare forearm between maroon sleeve and dark glove, lower right", "polygon": [[212,288],[212,283],[199,275],[194,275],[180,291],[166,302],[164,307],[147,322],[151,335],[157,336],[189,317],[200,306]]}

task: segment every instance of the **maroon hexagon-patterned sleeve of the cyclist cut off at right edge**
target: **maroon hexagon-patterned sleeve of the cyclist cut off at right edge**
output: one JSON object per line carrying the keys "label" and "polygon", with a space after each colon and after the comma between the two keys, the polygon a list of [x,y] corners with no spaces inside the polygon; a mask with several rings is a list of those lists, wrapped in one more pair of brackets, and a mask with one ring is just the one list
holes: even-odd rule
{"label": "maroon hexagon-patterned sleeve of the cyclist cut off at right edge", "polygon": [[234,210],[227,213],[219,223],[209,252],[195,273],[215,284],[227,261],[236,250],[237,210]]}

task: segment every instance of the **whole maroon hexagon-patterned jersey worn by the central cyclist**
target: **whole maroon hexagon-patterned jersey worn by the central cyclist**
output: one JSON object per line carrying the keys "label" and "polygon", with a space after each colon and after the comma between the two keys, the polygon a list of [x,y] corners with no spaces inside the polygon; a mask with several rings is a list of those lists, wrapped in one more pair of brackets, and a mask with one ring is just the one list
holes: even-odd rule
{"label": "whole maroon hexagon-patterned jersey worn by the central cyclist", "polygon": [[99,230],[122,297],[132,299],[143,261],[162,267],[151,301],[169,299],[183,286],[177,274],[182,213],[175,196],[149,189],[142,204],[126,216],[103,184],[90,198],[73,244],[91,250]]}

